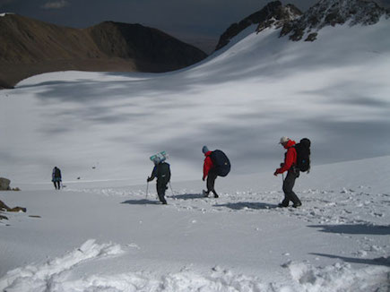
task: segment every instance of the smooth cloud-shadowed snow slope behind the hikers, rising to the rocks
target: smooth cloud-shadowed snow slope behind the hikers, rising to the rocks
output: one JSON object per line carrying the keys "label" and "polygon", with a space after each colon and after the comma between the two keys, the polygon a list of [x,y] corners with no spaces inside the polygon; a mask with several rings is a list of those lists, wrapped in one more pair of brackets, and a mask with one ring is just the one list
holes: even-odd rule
{"label": "smooth cloud-shadowed snow slope behind the hikers, rising to the rocks", "polygon": [[311,138],[317,165],[389,155],[389,23],[327,27],[313,43],[264,30],[178,73],[31,77],[0,92],[1,172],[43,182],[58,166],[66,180],[139,184],[167,150],[191,180],[204,144],[233,173],[272,171],[282,135]]}

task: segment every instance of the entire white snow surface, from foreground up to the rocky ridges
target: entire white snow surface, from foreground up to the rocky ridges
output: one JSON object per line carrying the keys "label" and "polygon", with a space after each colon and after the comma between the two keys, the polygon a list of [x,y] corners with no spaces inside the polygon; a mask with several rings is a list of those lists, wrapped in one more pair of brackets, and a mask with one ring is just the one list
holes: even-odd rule
{"label": "entire white snow surface, from foreground up to the rocky ridges", "polygon": [[[47,73],[0,91],[0,291],[389,291],[390,21],[238,36],[174,73]],[[277,208],[279,138],[313,167]],[[203,198],[202,146],[232,162]],[[149,157],[167,150],[168,205]],[[51,169],[65,187],[55,191]],[[79,178],[79,179],[78,179]]]}

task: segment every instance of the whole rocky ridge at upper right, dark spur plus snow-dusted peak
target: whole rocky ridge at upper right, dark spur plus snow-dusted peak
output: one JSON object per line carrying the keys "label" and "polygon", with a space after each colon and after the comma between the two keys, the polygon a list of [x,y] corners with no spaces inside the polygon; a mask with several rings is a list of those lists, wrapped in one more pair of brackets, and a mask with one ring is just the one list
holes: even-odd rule
{"label": "whole rocky ridge at upper right, dark spur plus snow-dusted peak", "polygon": [[317,4],[301,13],[293,4],[282,5],[280,1],[270,2],[256,13],[238,23],[233,23],[220,38],[215,48],[229,44],[242,30],[257,24],[257,33],[267,28],[281,29],[280,37],[289,36],[291,40],[316,40],[318,31],[325,26],[349,23],[351,26],[372,25],[381,17],[390,17],[390,11],[369,0],[320,0]]}

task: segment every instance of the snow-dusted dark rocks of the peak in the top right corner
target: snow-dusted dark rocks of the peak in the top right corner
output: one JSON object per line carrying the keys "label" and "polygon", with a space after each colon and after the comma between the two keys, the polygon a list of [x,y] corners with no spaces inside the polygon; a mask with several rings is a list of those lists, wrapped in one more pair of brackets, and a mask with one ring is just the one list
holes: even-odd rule
{"label": "snow-dusted dark rocks of the peak in the top right corner", "polygon": [[325,26],[335,26],[349,22],[371,25],[382,16],[390,17],[390,12],[375,2],[366,0],[321,0],[304,13],[299,19],[284,24],[281,36],[290,35],[291,40],[316,39],[318,30]]}

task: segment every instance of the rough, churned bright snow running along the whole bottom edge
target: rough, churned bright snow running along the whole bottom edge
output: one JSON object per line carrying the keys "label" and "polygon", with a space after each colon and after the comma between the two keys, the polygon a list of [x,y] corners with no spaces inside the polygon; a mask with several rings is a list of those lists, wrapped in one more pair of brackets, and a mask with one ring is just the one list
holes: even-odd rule
{"label": "rough, churned bright snow running along the whole bottom edge", "polygon": [[[353,270],[348,263],[314,267],[306,262],[288,262],[285,283],[274,283],[259,277],[235,274],[220,266],[212,268],[206,276],[183,268],[177,273],[162,276],[150,271],[119,274],[77,275],[76,266],[88,260],[99,260],[109,255],[123,253],[119,245],[98,245],[94,239],[80,248],[44,264],[28,265],[9,271],[0,279],[0,289],[16,291],[388,291],[390,268],[367,267]],[[101,264],[101,263],[100,263]],[[288,284],[286,284],[288,283]]]}

